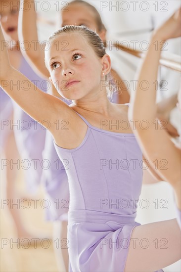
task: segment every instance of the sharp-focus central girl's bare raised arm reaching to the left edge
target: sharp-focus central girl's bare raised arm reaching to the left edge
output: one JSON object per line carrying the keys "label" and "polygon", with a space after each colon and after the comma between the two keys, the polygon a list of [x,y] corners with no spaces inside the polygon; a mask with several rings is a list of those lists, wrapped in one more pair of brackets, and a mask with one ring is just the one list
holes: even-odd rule
{"label": "sharp-focus central girl's bare raised arm reaching to the left edge", "polygon": [[55,121],[67,119],[71,115],[72,109],[64,102],[39,90],[30,80],[10,65],[7,42],[4,40],[1,27],[0,86],[27,114],[45,128],[48,128],[53,136],[57,127]]}

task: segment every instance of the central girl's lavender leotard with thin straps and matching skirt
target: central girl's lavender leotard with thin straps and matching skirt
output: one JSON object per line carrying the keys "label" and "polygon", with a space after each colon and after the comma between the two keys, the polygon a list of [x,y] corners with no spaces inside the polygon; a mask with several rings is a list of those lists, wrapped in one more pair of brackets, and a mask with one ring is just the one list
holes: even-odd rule
{"label": "central girl's lavender leotard with thin straps and matching skirt", "polygon": [[[68,160],[70,271],[123,272],[142,184],[142,153],[134,134],[88,126],[74,149],[57,146]],[[162,271],[162,270],[161,270]]]}

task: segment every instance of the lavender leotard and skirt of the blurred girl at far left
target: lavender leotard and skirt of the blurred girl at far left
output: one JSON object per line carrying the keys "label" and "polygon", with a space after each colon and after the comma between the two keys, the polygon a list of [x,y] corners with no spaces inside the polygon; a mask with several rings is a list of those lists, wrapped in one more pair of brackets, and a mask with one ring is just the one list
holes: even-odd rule
{"label": "lavender leotard and skirt of the blurred girl at far left", "polygon": [[[47,90],[47,81],[44,81],[37,76],[23,57],[19,71],[35,84],[35,91],[36,88],[39,88],[42,91]],[[23,87],[27,88],[25,91],[28,91],[26,82],[24,82]],[[9,122],[9,125],[6,127],[1,127],[1,147],[5,143],[8,133],[13,128],[17,148],[21,155],[19,166],[25,170],[27,189],[31,192],[36,192],[41,181],[42,169],[45,167],[45,165],[42,164],[42,151],[45,145],[45,129],[27,115],[2,90],[0,90],[0,106],[2,106],[0,110],[1,120]],[[9,120],[9,118],[13,120]],[[12,126],[12,122],[17,125]]]}

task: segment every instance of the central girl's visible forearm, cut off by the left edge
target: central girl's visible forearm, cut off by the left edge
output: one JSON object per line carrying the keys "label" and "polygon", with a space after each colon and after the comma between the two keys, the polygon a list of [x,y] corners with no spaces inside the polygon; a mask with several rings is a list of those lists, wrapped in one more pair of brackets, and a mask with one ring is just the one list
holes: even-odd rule
{"label": "central girl's visible forearm, cut off by the left edge", "polygon": [[9,73],[10,68],[12,68],[9,62],[7,46],[8,46],[8,42],[5,41],[1,26],[0,26],[0,80],[5,79],[6,74]]}

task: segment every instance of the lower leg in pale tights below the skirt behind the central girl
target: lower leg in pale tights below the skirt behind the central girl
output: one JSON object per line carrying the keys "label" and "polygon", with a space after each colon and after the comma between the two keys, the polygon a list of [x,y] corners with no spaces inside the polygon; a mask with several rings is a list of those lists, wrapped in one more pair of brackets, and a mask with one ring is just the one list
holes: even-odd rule
{"label": "lower leg in pale tights below the skirt behind the central girl", "polygon": [[53,223],[53,247],[59,272],[68,271],[67,224],[67,221]]}

